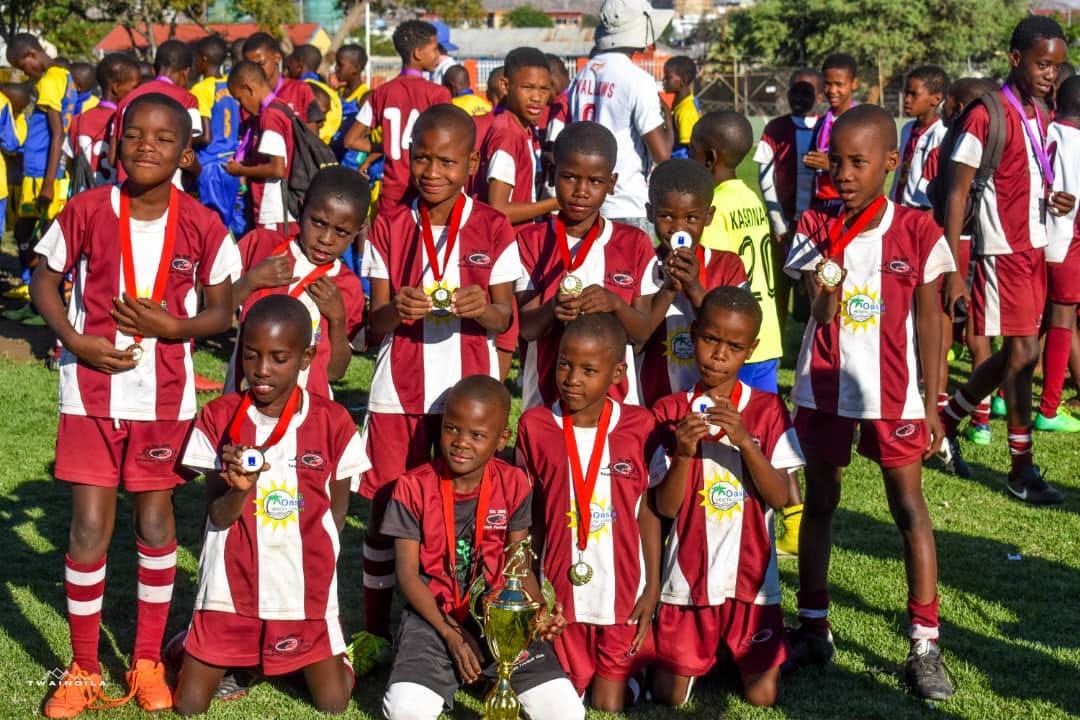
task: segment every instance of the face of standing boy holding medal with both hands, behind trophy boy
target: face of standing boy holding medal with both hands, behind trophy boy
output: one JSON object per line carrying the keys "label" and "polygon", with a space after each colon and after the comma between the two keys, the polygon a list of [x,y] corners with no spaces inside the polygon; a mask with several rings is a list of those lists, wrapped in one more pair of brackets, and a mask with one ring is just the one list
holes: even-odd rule
{"label": "face of standing boy holding medal with both hands, behind trophy boy", "polygon": [[456,127],[432,127],[413,137],[413,186],[429,205],[456,196],[476,172],[477,153]]}

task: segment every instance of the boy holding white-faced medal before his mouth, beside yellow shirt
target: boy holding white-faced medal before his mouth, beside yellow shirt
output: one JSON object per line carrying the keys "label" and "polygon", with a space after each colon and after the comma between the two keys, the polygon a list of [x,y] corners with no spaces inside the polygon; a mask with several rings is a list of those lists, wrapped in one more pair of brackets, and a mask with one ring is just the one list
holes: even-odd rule
{"label": "boy holding white-faced medal before his mouth, beside yellow shirt", "polygon": [[691,160],[667,160],[649,177],[649,222],[657,229],[657,285],[652,316],[657,331],[642,350],[642,398],[646,407],[698,381],[690,325],[710,289],[746,287],[734,253],[701,245],[713,221],[713,175]]}

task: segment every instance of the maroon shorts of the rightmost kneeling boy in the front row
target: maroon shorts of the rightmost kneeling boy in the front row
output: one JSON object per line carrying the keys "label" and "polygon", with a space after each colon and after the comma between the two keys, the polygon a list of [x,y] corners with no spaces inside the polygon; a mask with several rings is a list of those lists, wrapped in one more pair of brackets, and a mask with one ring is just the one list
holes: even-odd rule
{"label": "maroon shorts of the rightmost kneeling boy in the front row", "polygon": [[780,667],[789,650],[780,606],[741,600],[704,608],[660,603],[657,663],[665,670],[700,678],[716,664],[721,647],[744,676]]}

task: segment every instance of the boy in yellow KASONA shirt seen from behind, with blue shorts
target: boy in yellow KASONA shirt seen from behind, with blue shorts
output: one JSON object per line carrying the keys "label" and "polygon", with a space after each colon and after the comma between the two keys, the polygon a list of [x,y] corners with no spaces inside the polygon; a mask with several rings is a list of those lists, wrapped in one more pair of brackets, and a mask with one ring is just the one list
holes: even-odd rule
{"label": "boy in yellow KASONA shirt seen from behind, with blue shorts", "polygon": [[[779,248],[761,198],[735,176],[735,168],[753,145],[754,131],[745,117],[731,111],[710,112],[693,127],[690,158],[707,167],[716,182],[713,191],[716,214],[702,233],[701,244],[742,258],[751,293],[761,305],[761,329],[754,362],[742,366],[739,379],[756,390],[779,394],[777,372],[783,355],[783,338],[772,274],[775,267],[772,257]],[[781,511],[777,552],[797,555],[802,495],[796,475],[791,474],[788,479],[789,499]]]}

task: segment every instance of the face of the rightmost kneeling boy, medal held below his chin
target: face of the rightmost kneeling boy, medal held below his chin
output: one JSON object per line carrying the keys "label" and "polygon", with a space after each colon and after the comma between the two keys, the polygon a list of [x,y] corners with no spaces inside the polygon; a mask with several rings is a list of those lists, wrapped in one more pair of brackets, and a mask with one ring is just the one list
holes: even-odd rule
{"label": "face of the rightmost kneeling boy, medal held below his chin", "polygon": [[731,383],[757,348],[754,320],[745,313],[712,310],[694,321],[693,358],[702,388],[710,390]]}

